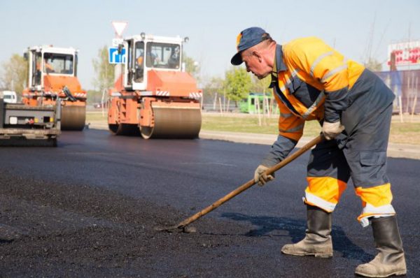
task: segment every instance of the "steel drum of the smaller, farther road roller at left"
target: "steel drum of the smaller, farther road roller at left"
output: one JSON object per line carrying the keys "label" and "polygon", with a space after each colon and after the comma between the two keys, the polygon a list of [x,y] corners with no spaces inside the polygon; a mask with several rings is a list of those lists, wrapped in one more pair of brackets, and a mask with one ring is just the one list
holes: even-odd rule
{"label": "steel drum of the smaller, farther road roller at left", "polygon": [[85,127],[86,106],[62,106],[61,129],[66,131],[81,131]]}

